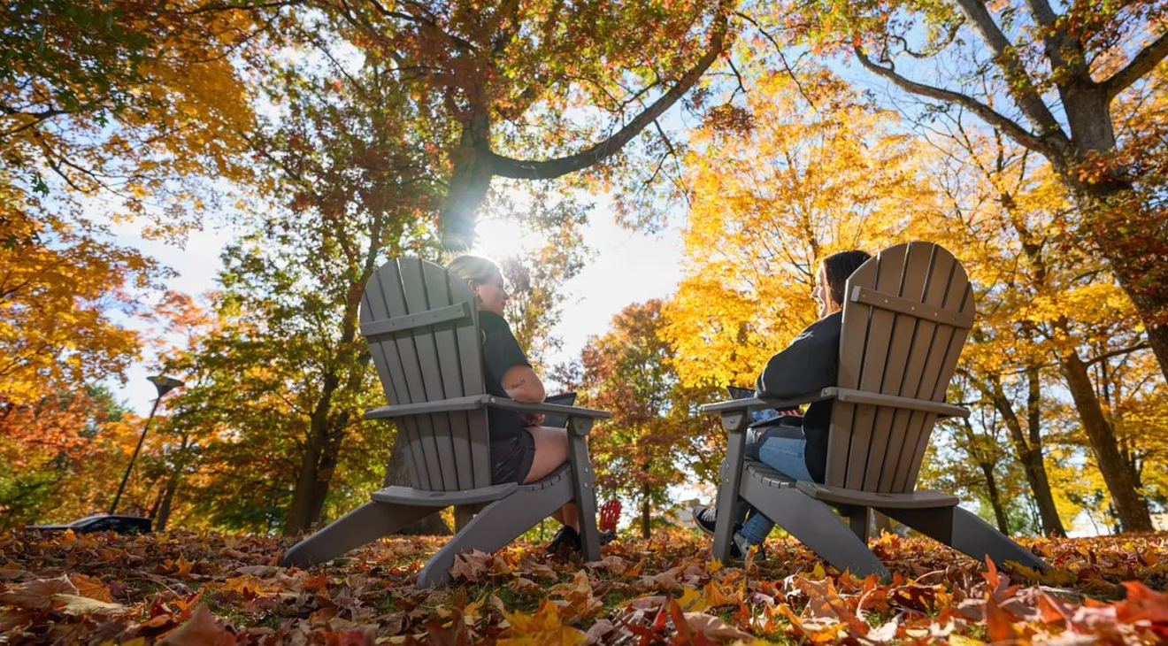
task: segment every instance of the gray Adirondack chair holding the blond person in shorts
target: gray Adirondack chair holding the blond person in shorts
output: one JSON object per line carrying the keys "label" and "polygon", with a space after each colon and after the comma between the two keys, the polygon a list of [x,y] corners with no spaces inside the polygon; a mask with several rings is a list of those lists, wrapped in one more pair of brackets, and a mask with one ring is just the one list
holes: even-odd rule
{"label": "gray Adirondack chair holding the blond person in shorts", "polygon": [[[460,508],[463,518],[478,509],[418,574],[419,588],[433,588],[450,581],[457,554],[499,549],[571,501],[580,516],[583,556],[599,558],[595,475],[584,440],[592,422],[609,412],[486,394],[474,293],[427,261],[397,258],[377,270],[361,300],[361,334],[389,401],[364,417],[396,423],[410,486],[373,493],[373,500],[292,547],[281,564],[322,563],[445,507]],[[537,482],[493,485],[488,408],[565,415],[569,461]]]}

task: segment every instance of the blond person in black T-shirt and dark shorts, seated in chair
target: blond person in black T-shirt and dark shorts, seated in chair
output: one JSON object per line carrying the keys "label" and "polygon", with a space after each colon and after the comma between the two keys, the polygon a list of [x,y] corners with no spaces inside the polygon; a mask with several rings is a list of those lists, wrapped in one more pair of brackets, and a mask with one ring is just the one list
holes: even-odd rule
{"label": "blond person in black T-shirt and dark shorts, seated in chair", "polygon": [[[531,369],[503,318],[508,296],[499,266],[486,258],[460,256],[447,270],[451,276],[466,280],[475,294],[487,393],[516,402],[542,402],[547,396],[543,381]],[[543,426],[542,423],[543,415],[538,414],[488,410],[493,484],[535,482],[568,461],[568,430]],[[548,551],[557,551],[562,546],[579,550],[576,505],[564,505],[552,518],[562,522],[563,528],[548,546]],[[602,543],[607,542],[605,539],[602,536]],[[611,540],[611,536],[607,539]]]}

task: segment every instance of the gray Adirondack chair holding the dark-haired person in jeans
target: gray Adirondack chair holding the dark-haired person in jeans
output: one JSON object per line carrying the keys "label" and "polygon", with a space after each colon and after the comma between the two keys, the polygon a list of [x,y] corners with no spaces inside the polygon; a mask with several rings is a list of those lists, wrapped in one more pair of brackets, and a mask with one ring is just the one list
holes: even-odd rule
{"label": "gray Adirondack chair holding the dark-haired person in jeans", "polygon": [[[958,507],[958,498],[916,491],[920,461],[939,417],[968,417],[946,404],[945,390],[973,325],[965,269],[927,242],[899,244],[848,279],[837,385],[784,401],[735,400],[702,407],[728,431],[717,499],[714,556],[730,556],[735,522],[746,501],[828,563],[856,575],[888,576],[868,549],[876,510],[974,558],[1047,564]],[[748,411],[834,398],[826,484],[794,481],[744,460]],[[848,519],[844,525],[832,508]]]}

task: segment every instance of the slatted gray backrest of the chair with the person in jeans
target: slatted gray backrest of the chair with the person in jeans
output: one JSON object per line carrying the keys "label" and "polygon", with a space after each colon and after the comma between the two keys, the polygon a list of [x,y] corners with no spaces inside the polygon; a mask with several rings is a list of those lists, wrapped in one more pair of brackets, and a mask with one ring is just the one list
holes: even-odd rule
{"label": "slatted gray backrest of the chair with the person in jeans", "polygon": [[[881,306],[884,294],[891,306]],[[882,251],[848,279],[839,387],[943,401],[973,314],[968,278],[948,251],[925,242]],[[827,484],[912,491],[936,421],[936,414],[835,402]]]}

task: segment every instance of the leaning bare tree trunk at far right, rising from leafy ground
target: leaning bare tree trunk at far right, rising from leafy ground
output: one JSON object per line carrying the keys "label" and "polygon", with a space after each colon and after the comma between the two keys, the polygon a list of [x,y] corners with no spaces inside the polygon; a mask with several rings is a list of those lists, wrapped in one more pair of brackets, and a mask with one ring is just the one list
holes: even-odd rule
{"label": "leaning bare tree trunk at far right, rising from leafy ground", "polygon": [[1086,363],[1078,353],[1069,349],[1061,354],[1059,366],[1124,530],[1150,532],[1153,527],[1148,503],[1132,481],[1131,468],[1119,452],[1115,433],[1107,423],[1099,398],[1091,387],[1091,375],[1087,374]]}

